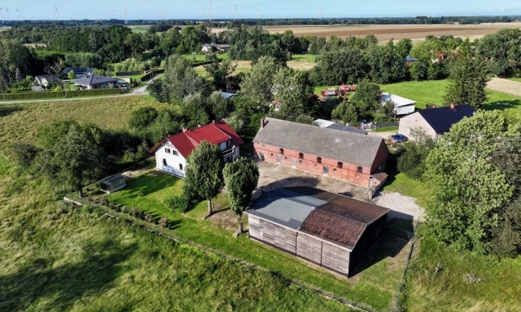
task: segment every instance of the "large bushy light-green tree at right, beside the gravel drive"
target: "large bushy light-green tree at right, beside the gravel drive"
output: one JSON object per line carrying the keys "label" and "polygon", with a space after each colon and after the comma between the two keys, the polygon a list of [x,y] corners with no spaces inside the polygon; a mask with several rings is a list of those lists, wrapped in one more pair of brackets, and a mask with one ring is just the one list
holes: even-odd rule
{"label": "large bushy light-green tree at right, beside the gravel drive", "polygon": [[488,157],[502,138],[516,134],[515,127],[502,112],[479,111],[453,125],[431,150],[425,164],[434,199],[427,209],[427,228],[438,241],[490,252],[499,209],[513,187]]}

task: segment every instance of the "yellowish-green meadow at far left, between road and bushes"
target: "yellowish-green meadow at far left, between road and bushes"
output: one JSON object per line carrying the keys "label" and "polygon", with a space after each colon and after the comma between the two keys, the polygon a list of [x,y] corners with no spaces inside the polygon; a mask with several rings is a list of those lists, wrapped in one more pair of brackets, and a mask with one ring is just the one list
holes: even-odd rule
{"label": "yellowish-green meadow at far left, between road and bushes", "polygon": [[50,121],[75,119],[103,128],[122,128],[132,110],[147,105],[170,107],[142,96],[0,105],[0,154],[8,152],[14,142],[35,141],[40,125]]}

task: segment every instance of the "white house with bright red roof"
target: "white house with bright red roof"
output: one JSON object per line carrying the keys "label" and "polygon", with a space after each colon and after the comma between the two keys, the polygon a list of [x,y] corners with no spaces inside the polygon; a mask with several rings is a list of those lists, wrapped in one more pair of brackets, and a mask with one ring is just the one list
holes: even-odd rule
{"label": "white house with bright red roof", "polygon": [[219,145],[224,162],[235,162],[239,157],[239,146],[245,143],[226,122],[212,121],[163,139],[149,153],[156,153],[157,170],[185,177],[186,159],[202,141]]}

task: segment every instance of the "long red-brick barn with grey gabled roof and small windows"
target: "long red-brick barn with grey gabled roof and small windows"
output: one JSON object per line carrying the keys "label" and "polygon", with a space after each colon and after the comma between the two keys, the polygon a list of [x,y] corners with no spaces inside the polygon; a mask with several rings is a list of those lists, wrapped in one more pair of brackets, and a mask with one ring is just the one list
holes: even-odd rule
{"label": "long red-brick barn with grey gabled roof and small windows", "polygon": [[378,189],[387,180],[389,150],[381,137],[267,118],[254,138],[266,162]]}

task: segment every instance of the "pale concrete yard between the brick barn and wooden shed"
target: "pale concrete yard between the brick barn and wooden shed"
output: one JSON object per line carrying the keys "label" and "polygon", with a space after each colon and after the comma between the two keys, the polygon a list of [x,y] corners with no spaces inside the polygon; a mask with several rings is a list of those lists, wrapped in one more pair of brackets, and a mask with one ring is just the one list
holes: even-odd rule
{"label": "pale concrete yard between the brick barn and wooden shed", "polygon": [[[357,186],[347,181],[333,179],[333,177],[315,175],[288,166],[276,165],[270,162],[260,162],[258,164],[258,171],[260,173],[258,188],[263,189],[264,191],[300,184],[306,187],[316,187],[317,189],[323,189],[324,191],[338,193],[359,200],[364,200],[367,197],[368,189],[366,187]],[[254,194],[254,196],[256,195],[257,194]]]}

